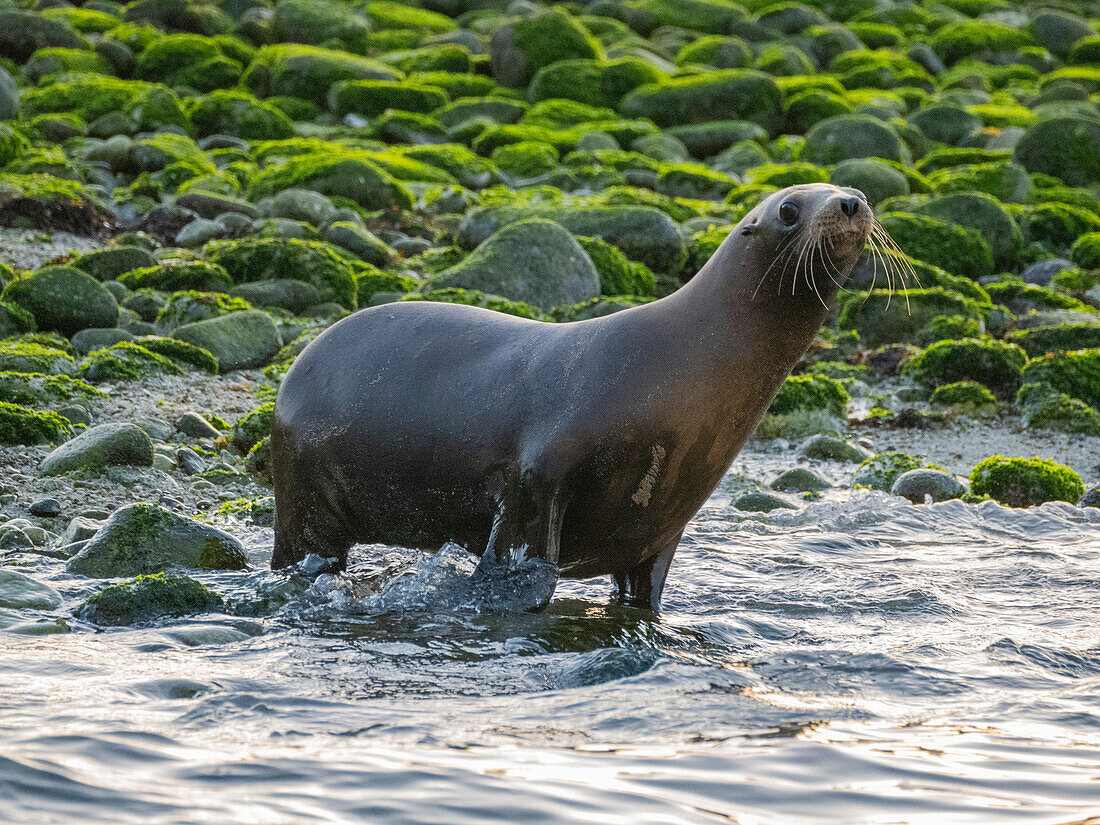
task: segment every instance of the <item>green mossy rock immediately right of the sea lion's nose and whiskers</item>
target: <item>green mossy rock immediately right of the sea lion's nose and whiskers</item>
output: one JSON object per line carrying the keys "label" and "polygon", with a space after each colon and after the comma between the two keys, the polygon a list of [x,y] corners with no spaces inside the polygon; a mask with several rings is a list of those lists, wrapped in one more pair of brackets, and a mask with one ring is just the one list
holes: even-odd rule
{"label": "green mossy rock immediately right of the sea lion's nose and whiskers", "polygon": [[886,212],[879,222],[912,257],[975,279],[993,274],[993,251],[972,229],[909,212]]}

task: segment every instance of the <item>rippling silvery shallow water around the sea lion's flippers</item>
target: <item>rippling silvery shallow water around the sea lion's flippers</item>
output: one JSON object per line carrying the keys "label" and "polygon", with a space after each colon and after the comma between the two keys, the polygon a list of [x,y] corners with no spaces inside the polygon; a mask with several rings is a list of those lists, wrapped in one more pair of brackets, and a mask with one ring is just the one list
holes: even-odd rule
{"label": "rippling silvery shallow water around the sea lion's flippers", "polygon": [[[250,618],[0,634],[0,821],[1070,823],[1100,814],[1100,510],[876,493],[693,520],[659,617],[471,562],[202,576]],[[418,566],[419,565],[419,566]],[[461,600],[451,600],[461,601]],[[37,631],[40,635],[26,635]],[[1098,820],[1097,822],[1100,822]]]}

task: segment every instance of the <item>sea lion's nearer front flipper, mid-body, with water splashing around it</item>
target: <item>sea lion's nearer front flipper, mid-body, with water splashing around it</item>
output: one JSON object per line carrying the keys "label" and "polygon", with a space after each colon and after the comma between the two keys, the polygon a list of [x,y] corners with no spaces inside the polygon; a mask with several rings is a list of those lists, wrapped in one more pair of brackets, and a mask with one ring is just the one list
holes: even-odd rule
{"label": "sea lion's nearer front flipper, mid-body, with water splashing around it", "polygon": [[[498,495],[496,517],[474,573],[479,591],[509,594],[510,609],[540,610],[558,584],[562,507],[557,484],[525,473]],[[491,598],[497,602],[496,598]]]}

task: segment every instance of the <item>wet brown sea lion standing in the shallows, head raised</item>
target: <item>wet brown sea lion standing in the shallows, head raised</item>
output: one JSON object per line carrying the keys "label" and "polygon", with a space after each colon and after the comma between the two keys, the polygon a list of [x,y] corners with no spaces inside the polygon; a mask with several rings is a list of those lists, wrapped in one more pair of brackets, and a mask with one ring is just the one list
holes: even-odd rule
{"label": "wet brown sea lion standing in the shallows, head raised", "polygon": [[344,318],[275,400],[272,566],[455,541],[610,574],[620,602],[657,608],[684,526],[873,227],[859,190],[794,186],[678,292],[614,315],[543,323],[405,301]]}

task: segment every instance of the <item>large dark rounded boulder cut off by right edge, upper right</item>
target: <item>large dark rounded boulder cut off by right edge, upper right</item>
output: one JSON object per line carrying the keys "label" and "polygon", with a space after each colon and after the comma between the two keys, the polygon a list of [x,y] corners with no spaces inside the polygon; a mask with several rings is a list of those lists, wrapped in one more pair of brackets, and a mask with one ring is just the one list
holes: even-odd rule
{"label": "large dark rounded boulder cut off by right edge, upper right", "polygon": [[1069,186],[1100,183],[1100,120],[1040,121],[1016,143],[1015,157],[1027,172],[1053,175]]}

